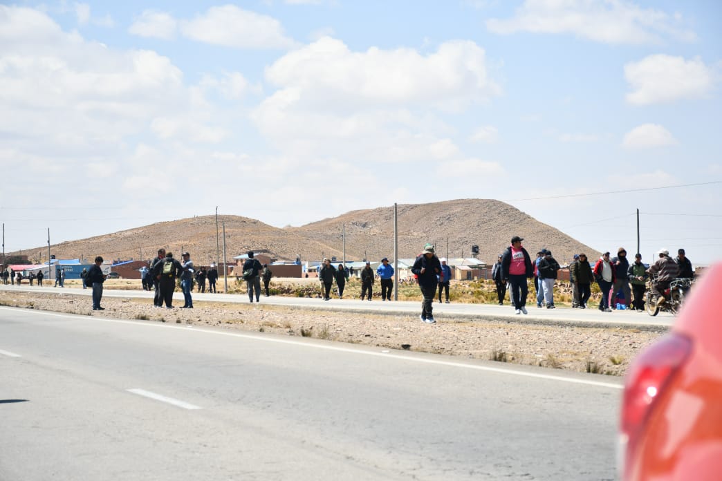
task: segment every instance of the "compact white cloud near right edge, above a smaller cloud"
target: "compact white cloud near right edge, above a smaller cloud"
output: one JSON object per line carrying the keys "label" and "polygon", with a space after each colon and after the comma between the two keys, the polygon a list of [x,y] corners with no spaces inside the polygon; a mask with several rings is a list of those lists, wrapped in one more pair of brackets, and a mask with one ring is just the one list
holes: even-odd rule
{"label": "compact white cloud near right edge, above a smaller cloud", "polygon": [[714,87],[713,70],[700,60],[652,55],[625,65],[625,79],[632,87],[627,102],[648,105],[705,97]]}

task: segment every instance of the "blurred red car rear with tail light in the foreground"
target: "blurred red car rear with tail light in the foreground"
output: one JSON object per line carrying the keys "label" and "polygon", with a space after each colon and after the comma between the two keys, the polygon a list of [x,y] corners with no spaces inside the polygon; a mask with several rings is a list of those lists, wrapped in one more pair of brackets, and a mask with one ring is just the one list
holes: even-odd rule
{"label": "blurred red car rear with tail light in the foreground", "polygon": [[671,332],[632,362],[622,401],[623,481],[722,480],[722,262]]}

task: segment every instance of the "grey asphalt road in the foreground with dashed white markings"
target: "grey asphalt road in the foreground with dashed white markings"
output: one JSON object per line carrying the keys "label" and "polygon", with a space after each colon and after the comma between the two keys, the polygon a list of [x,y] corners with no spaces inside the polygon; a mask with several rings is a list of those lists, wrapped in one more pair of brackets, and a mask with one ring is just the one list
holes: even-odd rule
{"label": "grey asphalt road in the foreground with dashed white markings", "polygon": [[613,480],[620,384],[0,307],[0,480]]}

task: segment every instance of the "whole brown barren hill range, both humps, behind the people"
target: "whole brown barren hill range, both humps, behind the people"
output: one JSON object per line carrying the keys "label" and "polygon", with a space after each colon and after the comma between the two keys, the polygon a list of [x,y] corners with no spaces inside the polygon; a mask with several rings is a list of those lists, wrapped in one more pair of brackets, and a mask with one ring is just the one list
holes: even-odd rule
{"label": "whole brown barren hill range, both humps, behind the people", "polygon": [[[415,257],[426,242],[437,247],[440,256],[469,257],[471,245],[479,245],[479,257],[493,263],[508,246],[513,235],[524,237],[524,245],[532,257],[547,247],[560,263],[574,252],[586,252],[594,259],[598,252],[547,224],[541,224],[526,213],[498,200],[463,199],[427,204],[399,205],[399,257]],[[320,260],[343,255],[342,226],[346,225],[346,257],[348,260],[379,260],[393,257],[393,206],[352,211],[333,219],[300,227],[278,229],[255,219],[241,216],[219,216],[225,222],[227,259],[248,250],[267,250],[279,260]],[[220,258],[223,258],[222,231]],[[181,250],[191,252],[197,263],[216,260],[215,216],[193,217],[160,222],[89,239],[63,242],[51,246],[58,258],[103,255],[108,259],[149,259],[158,247],[165,247],[180,257]],[[35,247],[19,252],[38,259]]]}

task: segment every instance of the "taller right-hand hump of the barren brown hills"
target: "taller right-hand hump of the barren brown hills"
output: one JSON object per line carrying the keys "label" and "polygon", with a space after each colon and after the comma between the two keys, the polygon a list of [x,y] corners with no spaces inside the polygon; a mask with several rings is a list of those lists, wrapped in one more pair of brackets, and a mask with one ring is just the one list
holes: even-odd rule
{"label": "taller right-hand hump of the barren brown hills", "polygon": [[[400,258],[415,257],[426,242],[435,244],[440,257],[471,257],[471,246],[476,244],[479,258],[492,264],[515,235],[524,238],[523,244],[532,257],[546,247],[560,264],[568,262],[578,252],[586,252],[590,259],[599,254],[562,231],[499,200],[399,204],[398,217]],[[361,259],[365,253],[371,260],[393,257],[393,206],[352,211],[285,230],[340,248],[344,224],[347,257]]]}

